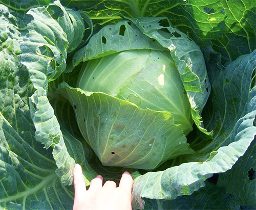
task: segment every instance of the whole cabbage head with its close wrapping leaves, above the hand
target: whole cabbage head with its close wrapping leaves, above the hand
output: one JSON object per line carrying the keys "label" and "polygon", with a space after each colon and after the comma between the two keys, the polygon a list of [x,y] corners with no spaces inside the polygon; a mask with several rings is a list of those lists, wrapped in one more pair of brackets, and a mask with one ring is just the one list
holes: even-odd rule
{"label": "whole cabbage head with its close wrapping leaves, above the hand", "polygon": [[153,170],[194,153],[186,139],[194,124],[209,134],[200,114],[210,85],[194,41],[165,18],[152,18],[148,27],[140,21],[95,34],[76,52],[74,65],[83,62],[77,87],[62,83],[58,92],[103,165]]}

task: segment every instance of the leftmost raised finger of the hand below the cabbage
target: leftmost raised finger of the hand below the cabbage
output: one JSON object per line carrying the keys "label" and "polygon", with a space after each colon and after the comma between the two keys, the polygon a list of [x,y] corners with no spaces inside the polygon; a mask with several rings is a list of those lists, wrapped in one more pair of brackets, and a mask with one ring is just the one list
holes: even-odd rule
{"label": "leftmost raised finger of the hand below the cabbage", "polygon": [[77,195],[83,195],[86,192],[86,182],[82,176],[82,168],[79,164],[76,164],[74,168],[73,183],[75,188],[75,197]]}

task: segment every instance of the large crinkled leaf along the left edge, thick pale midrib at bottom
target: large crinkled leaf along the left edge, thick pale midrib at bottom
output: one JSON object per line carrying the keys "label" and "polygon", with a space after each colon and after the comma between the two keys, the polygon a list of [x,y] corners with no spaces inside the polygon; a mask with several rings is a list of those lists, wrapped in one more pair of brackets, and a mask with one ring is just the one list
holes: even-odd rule
{"label": "large crinkled leaf along the left edge, thick pale midrib at bottom", "polygon": [[0,208],[70,209],[73,189],[56,175],[52,149],[35,140],[29,107],[35,89],[20,63],[23,36],[9,18],[0,5]]}

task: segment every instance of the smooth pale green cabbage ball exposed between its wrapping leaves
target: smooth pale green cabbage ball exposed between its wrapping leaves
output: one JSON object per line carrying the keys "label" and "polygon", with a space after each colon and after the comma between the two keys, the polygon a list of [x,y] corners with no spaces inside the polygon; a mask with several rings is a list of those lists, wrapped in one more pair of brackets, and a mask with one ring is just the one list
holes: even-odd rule
{"label": "smooth pale green cabbage ball exposed between its wrapping leaves", "polygon": [[185,89],[166,51],[129,50],[90,60],[81,70],[77,87],[104,92],[142,109],[170,112],[185,135],[193,129]]}

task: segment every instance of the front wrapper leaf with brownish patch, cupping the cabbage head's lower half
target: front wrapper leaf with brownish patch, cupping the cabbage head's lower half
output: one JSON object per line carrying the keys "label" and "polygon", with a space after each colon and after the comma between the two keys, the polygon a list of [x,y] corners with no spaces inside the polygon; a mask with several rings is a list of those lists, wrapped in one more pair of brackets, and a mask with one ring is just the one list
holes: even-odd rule
{"label": "front wrapper leaf with brownish patch, cupping the cabbage head's lower half", "polygon": [[103,165],[154,169],[167,159],[194,152],[169,112],[139,109],[116,97],[65,83],[57,93],[71,102],[82,135]]}

